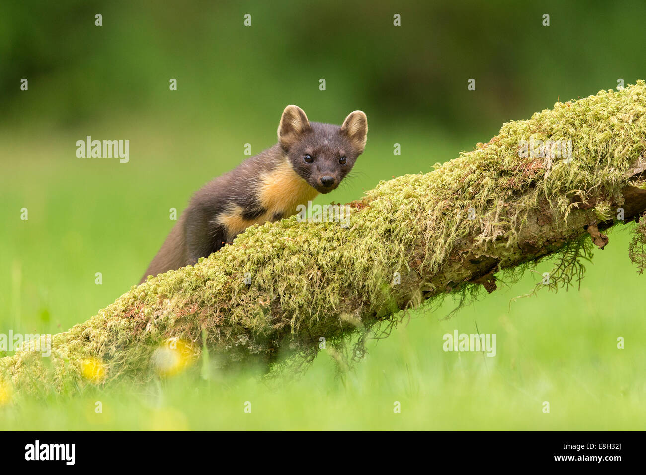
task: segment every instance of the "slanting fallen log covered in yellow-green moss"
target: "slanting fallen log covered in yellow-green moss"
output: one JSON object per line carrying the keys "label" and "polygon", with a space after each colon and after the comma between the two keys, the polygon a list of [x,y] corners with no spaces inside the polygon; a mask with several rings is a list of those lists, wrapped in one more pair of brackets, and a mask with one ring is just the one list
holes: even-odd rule
{"label": "slanting fallen log covered in yellow-green moss", "polygon": [[252,226],[54,335],[49,358],[21,350],[0,359],[0,377],[24,393],[142,383],[203,348],[211,366],[268,371],[286,357],[311,360],[321,337],[328,348],[365,337],[400,310],[493,291],[501,273],[575,249],[557,285],[581,249],[607,244],[603,229],[646,209],[645,150],[643,81],[556,103],[430,173],[380,182],[349,204],[348,227],[296,216]]}

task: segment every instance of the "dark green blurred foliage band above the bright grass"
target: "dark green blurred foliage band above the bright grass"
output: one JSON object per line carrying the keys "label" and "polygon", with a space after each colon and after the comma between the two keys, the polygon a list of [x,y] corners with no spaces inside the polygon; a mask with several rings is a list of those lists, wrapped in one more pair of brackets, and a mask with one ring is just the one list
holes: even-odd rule
{"label": "dark green blurred foliage band above the bright grass", "polygon": [[65,126],[182,109],[240,124],[287,103],[333,120],[351,104],[377,120],[492,133],[559,96],[645,77],[645,14],[642,0],[9,2],[0,107],[7,121]]}

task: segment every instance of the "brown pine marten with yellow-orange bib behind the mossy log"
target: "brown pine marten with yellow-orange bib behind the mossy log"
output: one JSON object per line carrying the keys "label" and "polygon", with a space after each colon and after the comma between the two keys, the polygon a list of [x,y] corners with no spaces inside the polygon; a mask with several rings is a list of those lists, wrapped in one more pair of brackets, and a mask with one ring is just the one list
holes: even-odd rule
{"label": "brown pine marten with yellow-orange bib behind the mossy log", "polygon": [[339,127],[310,122],[300,107],[288,105],[278,143],[193,195],[140,283],[195,264],[252,224],[294,215],[298,205],[337,188],[363,153],[367,134],[362,111],[351,112]]}

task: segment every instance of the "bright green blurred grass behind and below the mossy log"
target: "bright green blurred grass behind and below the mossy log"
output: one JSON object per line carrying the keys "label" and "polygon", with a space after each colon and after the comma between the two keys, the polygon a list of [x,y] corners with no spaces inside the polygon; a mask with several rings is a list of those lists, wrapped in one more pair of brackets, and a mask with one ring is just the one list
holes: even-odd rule
{"label": "bright green blurred grass behind and below the mossy log", "polygon": [[[204,182],[243,160],[243,145],[251,140],[213,132],[216,127],[177,130],[163,121],[95,128],[90,133],[97,138],[129,138],[130,164],[76,158],[74,142],[84,129],[34,127],[0,136],[2,333],[61,332],[114,301],[138,281],[161,245],[172,225],[169,207],[181,210]],[[274,129],[267,123],[251,134],[258,141],[254,153],[271,145]],[[381,179],[428,171],[432,162],[472,146],[440,133],[375,129],[355,167],[360,174],[317,202],[353,200]],[[392,155],[393,142],[402,143],[402,156]],[[211,149],[213,143],[220,145]],[[421,158],[428,156],[433,159]],[[28,221],[19,219],[22,207]],[[609,237],[581,290],[541,291],[510,305],[540,279],[527,273],[452,319],[443,320],[452,302],[417,311],[390,337],[371,342],[367,357],[341,378],[322,351],[301,379],[278,387],[244,374],[209,381],[182,374],[145,387],[5,405],[0,427],[643,428],[646,315],[640,297],[646,277],[627,257],[628,227]],[[549,268],[544,262],[537,271]],[[94,283],[96,272],[103,285]],[[480,333],[497,334],[495,357],[443,352],[444,333],[475,333],[476,324]],[[625,338],[623,350],[616,348],[618,337]],[[102,414],[95,412],[97,401]],[[246,401],[251,414],[244,412]],[[395,401],[401,414],[393,414]],[[543,414],[543,401],[550,414]]]}

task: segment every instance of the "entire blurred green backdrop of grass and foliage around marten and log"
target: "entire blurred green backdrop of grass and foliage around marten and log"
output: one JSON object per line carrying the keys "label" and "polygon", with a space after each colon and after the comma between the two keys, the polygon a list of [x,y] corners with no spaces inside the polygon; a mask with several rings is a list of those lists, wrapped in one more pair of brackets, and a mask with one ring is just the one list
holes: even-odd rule
{"label": "entire blurred green backdrop of grass and foliage around marten and log", "polygon": [[[379,180],[430,171],[558,99],[646,79],[645,19],[641,0],[6,3],[0,333],[61,332],[129,290],[174,224],[169,209],[242,162],[245,143],[254,154],[273,145],[287,104],[314,121],[368,115],[357,176],[317,198],[347,202]],[[76,140],[88,135],[129,140],[129,163],[77,158]],[[280,388],[249,375],[180,375],[5,405],[0,427],[643,428],[646,315],[633,302],[645,277],[627,258],[629,231],[610,233],[580,290],[510,304],[540,279],[528,272],[452,319],[443,320],[453,302],[417,311],[341,378],[321,352]],[[497,333],[496,357],[443,352],[444,333],[475,325]]]}

